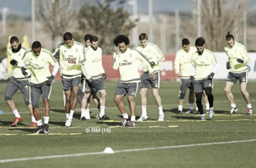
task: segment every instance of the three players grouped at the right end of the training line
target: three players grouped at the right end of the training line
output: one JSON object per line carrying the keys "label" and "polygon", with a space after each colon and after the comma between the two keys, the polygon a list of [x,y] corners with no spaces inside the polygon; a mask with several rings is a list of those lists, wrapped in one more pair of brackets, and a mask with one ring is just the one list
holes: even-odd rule
{"label": "three players grouped at the right end of the training line", "polygon": [[[230,101],[230,111],[227,114],[233,114],[238,111],[236,103],[234,103],[234,95],[231,88],[239,80],[241,92],[247,103],[247,114],[252,114],[250,96],[247,91],[248,67],[250,61],[247,50],[243,44],[235,42],[234,36],[228,32],[226,34],[227,46],[224,47],[228,59],[226,61],[226,69],[230,69],[226,79],[224,91],[226,97]],[[201,114],[201,120],[205,120],[205,114],[209,114],[209,118],[214,116],[214,95],[212,89],[214,86],[213,77],[218,71],[219,65],[216,56],[210,50],[205,48],[204,38],[195,40],[195,47],[190,46],[187,38],[182,40],[181,50],[177,51],[174,60],[174,71],[181,77],[181,89],[179,92],[179,110],[177,114],[182,114],[183,101],[187,88],[189,88],[189,110],[186,114],[193,113],[194,93],[196,99],[196,112]],[[205,114],[201,98],[204,95]]]}

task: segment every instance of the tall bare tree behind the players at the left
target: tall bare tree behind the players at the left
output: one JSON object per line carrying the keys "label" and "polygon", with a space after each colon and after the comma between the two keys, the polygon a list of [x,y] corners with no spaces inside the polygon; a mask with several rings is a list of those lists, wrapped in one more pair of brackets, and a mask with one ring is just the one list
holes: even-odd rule
{"label": "tall bare tree behind the players at the left", "polygon": [[63,36],[64,31],[72,24],[75,11],[72,9],[73,0],[40,0],[37,4],[37,19],[42,21],[46,31],[51,33],[53,49],[56,48],[56,38]]}

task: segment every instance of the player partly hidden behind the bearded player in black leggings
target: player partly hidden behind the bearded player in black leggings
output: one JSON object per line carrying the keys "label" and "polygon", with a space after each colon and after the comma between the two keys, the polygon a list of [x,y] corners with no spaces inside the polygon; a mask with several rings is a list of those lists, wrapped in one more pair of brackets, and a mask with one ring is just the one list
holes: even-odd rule
{"label": "player partly hidden behind the bearded player in black leggings", "polygon": [[[192,67],[191,56],[197,52],[197,48],[195,46],[190,46],[190,42],[187,38],[183,38],[181,44],[183,48],[177,51],[174,60],[174,71],[178,77],[181,77],[181,89],[179,91],[179,107],[177,114],[182,114],[183,112],[183,102],[187,88],[189,88],[189,110],[186,114],[189,114],[193,113],[193,103],[195,101],[193,85],[189,85],[189,77],[191,75]],[[209,102],[205,91],[203,91],[203,97],[206,106],[205,113],[209,114]]]}

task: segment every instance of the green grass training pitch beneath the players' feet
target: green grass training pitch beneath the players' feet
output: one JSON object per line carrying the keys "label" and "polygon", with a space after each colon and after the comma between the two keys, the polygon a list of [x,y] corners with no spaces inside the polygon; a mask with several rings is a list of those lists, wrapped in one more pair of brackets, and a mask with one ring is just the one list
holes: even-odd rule
{"label": "green grass training pitch beneath the players' feet", "polygon": [[[238,83],[232,88],[238,112],[227,115],[230,103],[224,94],[225,81],[214,81],[214,118],[200,121],[200,116],[185,114],[189,108],[188,91],[183,106],[183,114],[177,115],[179,83],[162,81],[160,95],[164,109],[164,122],[157,122],[158,108],[152,89],[148,91],[148,122],[137,122],[136,128],[116,127],[122,116],[115,102],[115,87],[118,82],[106,82],[106,114],[110,122],[96,120],[94,103],[91,104],[91,120],[81,121],[79,104],[73,116],[72,127],[64,128],[65,110],[61,83],[53,83],[51,93],[51,114],[49,135],[34,135],[30,126],[31,118],[24,103],[22,93],[18,91],[13,96],[18,111],[24,118],[17,128],[12,128],[14,118],[11,110],[4,102],[4,91],[7,83],[0,83],[2,101],[0,110],[0,160],[28,157],[45,157],[51,155],[69,155],[75,153],[102,152],[107,146],[114,151],[125,149],[145,149],[162,146],[179,146],[170,149],[154,149],[148,151],[120,152],[115,154],[95,154],[53,159],[37,159],[0,163],[0,167],[255,167],[256,141],[227,144],[209,144],[199,146],[183,146],[187,144],[202,144],[212,142],[230,142],[233,140],[256,139],[255,112],[247,116],[247,106]],[[255,107],[255,82],[249,82],[247,90],[251,103]],[[99,95],[98,95],[99,96]],[[137,116],[141,114],[139,91],[135,98]],[[127,97],[123,99],[127,113],[130,116]],[[204,105],[204,103],[203,103]],[[205,107],[204,107],[205,108]],[[42,110],[42,101],[40,101]],[[195,106],[194,106],[195,110]],[[43,120],[42,120],[43,121]],[[86,128],[90,130],[86,132]],[[100,132],[92,132],[93,128]],[[102,133],[103,129],[103,133]],[[110,131],[110,133],[109,133]]]}

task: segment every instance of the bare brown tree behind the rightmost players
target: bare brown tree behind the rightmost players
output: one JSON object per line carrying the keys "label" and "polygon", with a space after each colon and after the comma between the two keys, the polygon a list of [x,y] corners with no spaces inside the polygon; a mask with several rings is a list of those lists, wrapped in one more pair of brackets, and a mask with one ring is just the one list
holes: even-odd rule
{"label": "bare brown tree behind the rightmost players", "polygon": [[[197,0],[193,3],[196,6]],[[202,0],[201,36],[205,38],[208,49],[223,51],[227,32],[233,34],[236,40],[242,36],[243,14],[247,12],[248,3],[247,0]]]}

